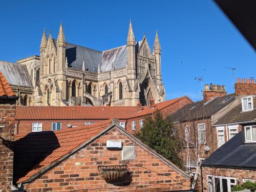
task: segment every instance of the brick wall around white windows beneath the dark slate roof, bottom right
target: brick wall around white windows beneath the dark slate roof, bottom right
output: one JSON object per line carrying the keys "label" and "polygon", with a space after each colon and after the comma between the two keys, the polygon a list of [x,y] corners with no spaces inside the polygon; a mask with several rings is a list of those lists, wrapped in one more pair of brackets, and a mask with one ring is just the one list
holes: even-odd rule
{"label": "brick wall around white windows beneath the dark slate roof, bottom right", "polygon": [[216,167],[203,167],[203,191],[208,191],[207,175],[233,177],[237,184],[243,183],[243,179],[253,179],[255,181],[255,170],[224,169]]}

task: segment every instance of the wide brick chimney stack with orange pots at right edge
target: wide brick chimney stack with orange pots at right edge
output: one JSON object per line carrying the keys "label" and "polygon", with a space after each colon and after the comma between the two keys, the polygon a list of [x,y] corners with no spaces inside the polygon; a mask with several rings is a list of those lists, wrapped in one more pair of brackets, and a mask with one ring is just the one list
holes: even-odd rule
{"label": "wide brick chimney stack with orange pots at right edge", "polygon": [[236,96],[256,95],[256,82],[254,83],[253,78],[250,80],[247,79],[246,82],[244,78],[242,79],[242,82],[240,81],[240,78],[238,78],[238,82],[234,84],[234,89]]}

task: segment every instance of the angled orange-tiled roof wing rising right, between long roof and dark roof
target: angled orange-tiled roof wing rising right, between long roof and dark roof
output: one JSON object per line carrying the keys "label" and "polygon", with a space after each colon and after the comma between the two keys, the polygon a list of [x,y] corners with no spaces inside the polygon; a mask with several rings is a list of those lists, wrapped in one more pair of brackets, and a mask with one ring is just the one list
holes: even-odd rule
{"label": "angled orange-tiled roof wing rising right, between long roof and dark roof", "polygon": [[[184,100],[183,101],[184,104],[192,103],[192,101],[188,97],[184,96],[184,97],[181,97],[181,98],[176,98],[176,99],[173,99],[173,100],[168,100],[168,101],[164,101],[164,102],[161,102],[161,103],[157,103],[157,104],[154,104],[152,106],[146,106],[143,110],[132,114],[129,118],[134,118],[134,117],[144,116],[144,115],[150,115],[150,114],[156,112],[157,110],[162,110],[162,109],[167,108],[170,105],[173,105],[173,104],[175,104],[179,101],[182,101],[182,100]],[[182,106],[184,106],[184,105],[182,105]],[[176,109],[170,108],[170,109],[168,109],[168,112],[173,113],[178,109],[179,108],[176,108]]]}

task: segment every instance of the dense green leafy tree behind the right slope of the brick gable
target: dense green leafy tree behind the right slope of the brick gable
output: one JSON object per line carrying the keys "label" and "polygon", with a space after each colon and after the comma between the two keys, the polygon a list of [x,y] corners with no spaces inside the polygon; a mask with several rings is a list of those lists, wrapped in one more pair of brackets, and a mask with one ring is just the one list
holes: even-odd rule
{"label": "dense green leafy tree behind the right slope of the brick gable", "polygon": [[181,146],[172,127],[173,123],[169,118],[164,118],[158,111],[153,117],[146,118],[143,128],[136,132],[135,136],[160,155],[181,167],[182,161],[177,154],[180,152]]}

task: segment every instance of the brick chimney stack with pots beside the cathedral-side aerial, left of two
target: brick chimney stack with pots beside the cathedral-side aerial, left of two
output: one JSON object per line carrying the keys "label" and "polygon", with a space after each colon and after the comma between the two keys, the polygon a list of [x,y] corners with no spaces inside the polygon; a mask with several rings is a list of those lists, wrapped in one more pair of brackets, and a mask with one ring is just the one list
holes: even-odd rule
{"label": "brick chimney stack with pots beside the cathedral-side aerial, left of two", "polygon": [[210,83],[210,87],[208,84],[205,84],[205,88],[203,91],[204,103],[211,100],[215,97],[222,97],[227,94],[225,85],[212,85]]}

